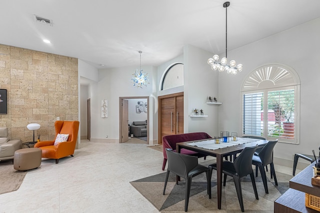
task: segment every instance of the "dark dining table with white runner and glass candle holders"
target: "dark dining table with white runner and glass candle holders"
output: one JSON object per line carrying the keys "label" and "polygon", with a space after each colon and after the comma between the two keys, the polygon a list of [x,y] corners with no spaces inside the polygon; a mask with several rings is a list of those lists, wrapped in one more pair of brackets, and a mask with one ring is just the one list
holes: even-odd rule
{"label": "dark dining table with white runner and glass candle holders", "polygon": [[226,143],[216,143],[215,139],[204,139],[198,141],[187,141],[176,143],[176,152],[180,153],[181,149],[191,150],[206,156],[216,158],[216,185],[217,185],[217,206],[221,209],[221,193],[222,193],[222,162],[223,157],[236,155],[245,147],[263,147],[267,144],[267,140],[259,140],[252,138],[238,137],[233,138]]}

